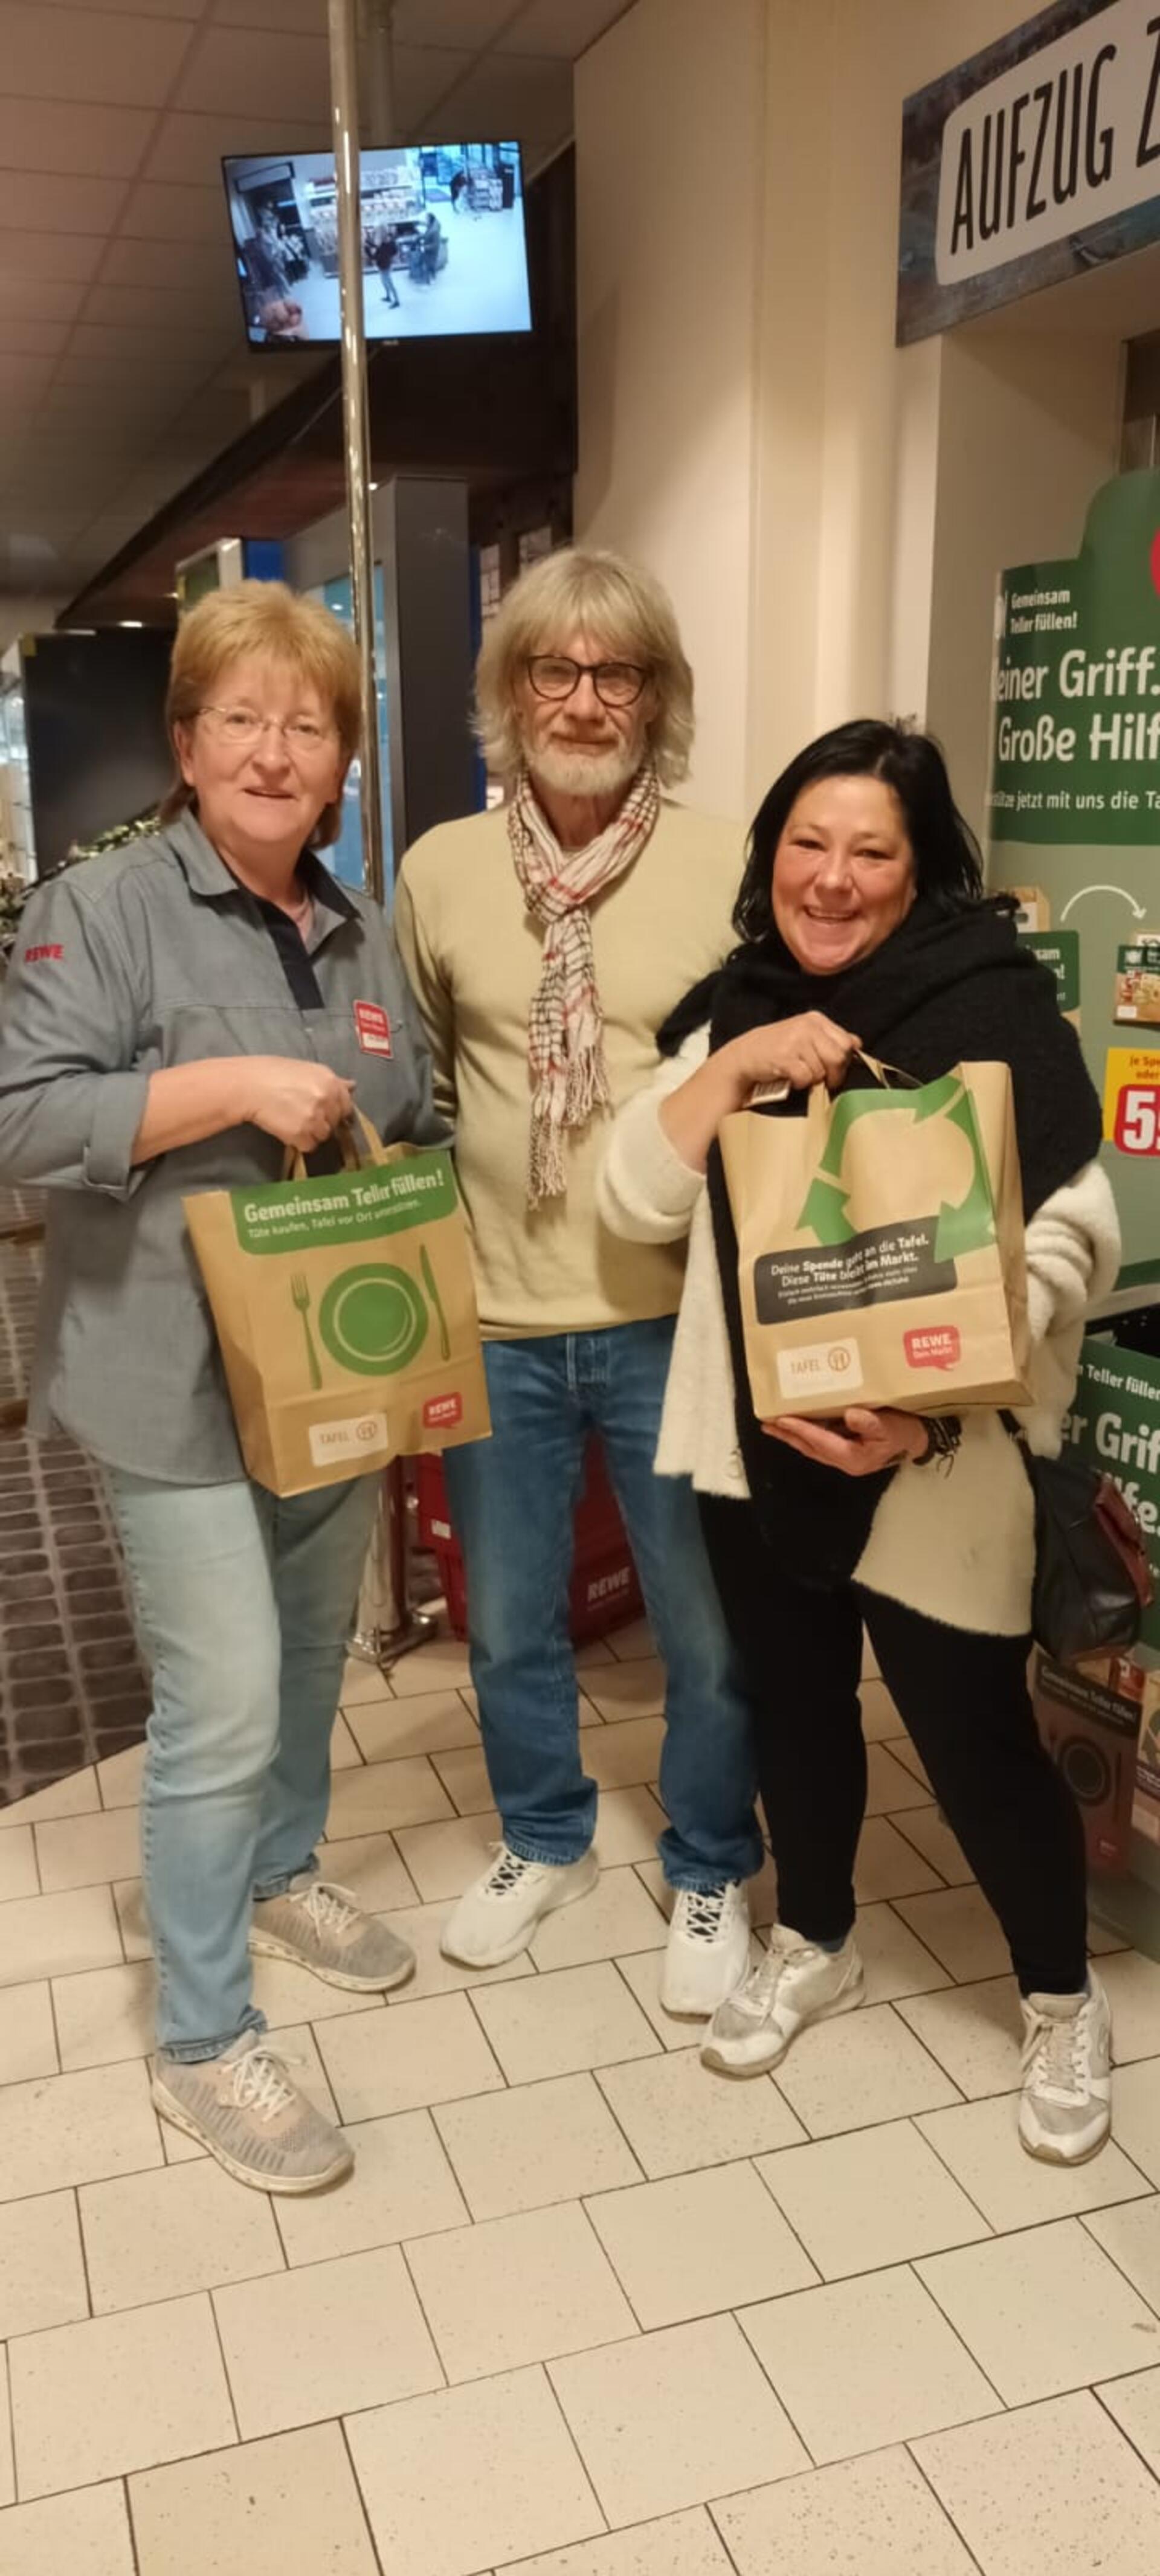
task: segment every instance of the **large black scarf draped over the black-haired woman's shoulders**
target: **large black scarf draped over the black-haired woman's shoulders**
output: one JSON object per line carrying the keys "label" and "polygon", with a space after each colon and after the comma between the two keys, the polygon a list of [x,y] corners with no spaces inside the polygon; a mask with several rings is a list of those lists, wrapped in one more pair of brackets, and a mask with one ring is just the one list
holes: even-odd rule
{"label": "large black scarf draped over the black-haired woman's shoulders", "polygon": [[[962,1061],[1008,1064],[1023,1216],[1034,1216],[1052,1190],[1098,1154],[1101,1108],[1075,1030],[1059,1015],[1054,976],[1021,948],[1013,920],[992,904],[946,914],[918,902],[882,948],[827,976],[804,974],[778,933],[771,933],[735,948],[719,974],[696,984],[665,1020],[657,1043],[662,1054],[675,1054],[693,1028],[709,1023],[714,1051],[748,1028],[791,1020],[804,1010],[822,1010],[853,1030],[869,1054],[918,1082],[936,1082]],[[869,1077],[856,1066],[851,1079]],[[802,1110],[804,1092],[794,1092],[766,1115]],[[799,1582],[840,1584],[858,1564],[892,1468],[882,1476],[843,1476],[799,1458],[760,1430],[745,1370],[737,1231],[717,1144],[709,1151],[709,1206],[730,1327],[737,1440],[766,1540]]]}

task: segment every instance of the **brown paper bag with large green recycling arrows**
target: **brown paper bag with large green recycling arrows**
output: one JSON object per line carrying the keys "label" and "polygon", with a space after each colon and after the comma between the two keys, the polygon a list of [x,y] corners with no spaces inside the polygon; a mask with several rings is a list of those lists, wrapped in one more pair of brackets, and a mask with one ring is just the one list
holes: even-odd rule
{"label": "brown paper bag with large green recycling arrows", "polygon": [[804,1118],[737,1110],[722,1162],[763,1422],[1029,1401],[1005,1064],[956,1064],[910,1090],[817,1084]]}

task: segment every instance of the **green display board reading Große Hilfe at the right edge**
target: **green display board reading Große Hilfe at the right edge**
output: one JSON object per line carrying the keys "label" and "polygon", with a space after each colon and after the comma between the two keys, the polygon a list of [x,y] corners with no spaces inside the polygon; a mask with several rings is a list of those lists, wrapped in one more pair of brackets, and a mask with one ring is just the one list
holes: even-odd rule
{"label": "green display board reading Gro\u00dfe Hilfe at the right edge", "polygon": [[1080,554],[1000,574],[990,884],[1078,1015],[1103,1100],[1121,1285],[1160,1291],[1160,474],[1121,474]]}

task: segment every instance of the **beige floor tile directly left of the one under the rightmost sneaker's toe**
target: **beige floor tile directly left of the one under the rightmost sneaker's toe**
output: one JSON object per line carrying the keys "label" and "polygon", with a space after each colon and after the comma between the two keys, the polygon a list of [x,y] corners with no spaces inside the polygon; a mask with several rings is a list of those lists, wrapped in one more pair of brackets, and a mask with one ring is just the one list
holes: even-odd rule
{"label": "beige floor tile directly left of the one under the rightmost sneaker's toe", "polygon": [[987,2236],[987,2221],[910,2120],[760,2156],[758,2174],[822,2280]]}

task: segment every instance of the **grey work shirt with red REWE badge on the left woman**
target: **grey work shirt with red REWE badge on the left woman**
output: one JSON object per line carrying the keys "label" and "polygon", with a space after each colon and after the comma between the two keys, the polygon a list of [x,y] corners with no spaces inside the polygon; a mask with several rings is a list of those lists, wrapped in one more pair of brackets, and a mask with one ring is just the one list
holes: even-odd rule
{"label": "grey work shirt with red REWE badge on the left woman", "polygon": [[296,1056],[356,1082],[384,1139],[446,1141],[384,914],[302,868],[317,999],[193,814],[41,886],[0,987],[0,1182],[49,1190],[31,1430],[160,1484],[245,1473],[180,1200],[281,1180],[284,1146],[237,1126],[134,1167],[150,1074]]}

